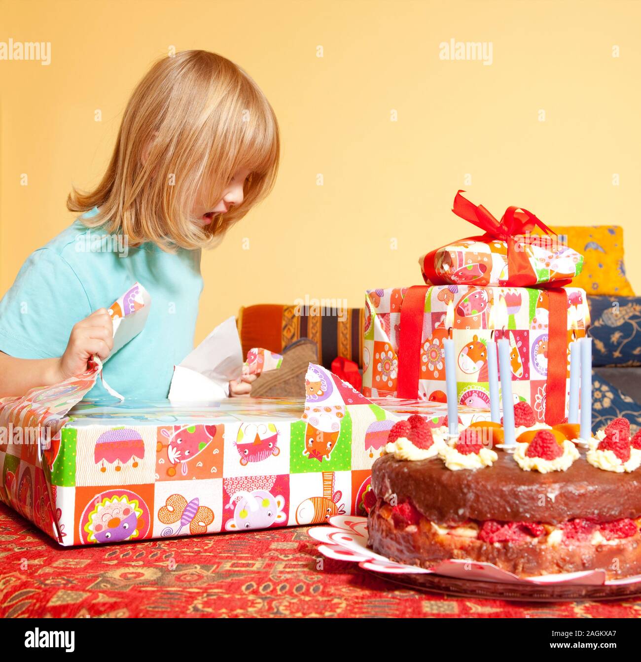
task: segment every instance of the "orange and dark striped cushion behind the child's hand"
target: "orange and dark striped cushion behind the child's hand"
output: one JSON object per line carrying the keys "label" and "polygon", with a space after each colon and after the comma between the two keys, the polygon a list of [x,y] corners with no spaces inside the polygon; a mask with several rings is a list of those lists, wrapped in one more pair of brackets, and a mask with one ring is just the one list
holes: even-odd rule
{"label": "orange and dark striped cushion behind the child's hand", "polygon": [[252,347],[280,353],[299,338],[309,338],[317,344],[324,367],[330,368],[337,356],[363,367],[364,309],[347,308],[340,316],[313,312],[276,304],[240,308],[237,325],[243,354]]}

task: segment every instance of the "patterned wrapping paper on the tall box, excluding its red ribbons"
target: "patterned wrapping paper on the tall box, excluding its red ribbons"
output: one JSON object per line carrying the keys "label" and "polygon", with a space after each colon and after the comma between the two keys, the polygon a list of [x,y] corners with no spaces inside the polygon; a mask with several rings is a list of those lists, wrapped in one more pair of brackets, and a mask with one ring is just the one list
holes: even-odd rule
{"label": "patterned wrapping paper on the tall box, excluding its red ribbons", "polygon": [[[366,293],[363,393],[366,397],[394,397],[399,375],[401,308],[408,288],[369,290]],[[585,292],[565,288],[567,295],[567,344],[573,336],[585,335],[589,309]],[[444,402],[445,361],[443,340],[447,337],[445,316],[454,303],[452,337],[456,347],[458,399],[467,406],[489,407],[487,358],[481,354],[490,339],[488,328],[492,302],[505,297],[509,324],[495,332],[495,340],[509,338],[512,350],[512,390],[515,401],[532,405],[539,420],[546,408],[548,373],[548,308],[546,291],[517,287],[434,285],[427,289],[420,343],[419,398]],[[487,356],[487,354],[485,354]],[[567,351],[566,410],[569,395],[569,350]]]}

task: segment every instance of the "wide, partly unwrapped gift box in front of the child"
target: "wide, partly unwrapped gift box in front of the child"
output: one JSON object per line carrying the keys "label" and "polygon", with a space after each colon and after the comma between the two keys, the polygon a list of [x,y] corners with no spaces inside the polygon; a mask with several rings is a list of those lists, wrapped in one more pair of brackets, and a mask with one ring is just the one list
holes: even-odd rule
{"label": "wide, partly unwrapped gift box in front of the child", "polygon": [[[62,545],[320,523],[363,514],[373,461],[395,420],[446,407],[385,409],[319,365],[307,399],[207,406],[80,402],[50,443],[0,438],[0,498]],[[487,412],[460,410],[460,420]]]}

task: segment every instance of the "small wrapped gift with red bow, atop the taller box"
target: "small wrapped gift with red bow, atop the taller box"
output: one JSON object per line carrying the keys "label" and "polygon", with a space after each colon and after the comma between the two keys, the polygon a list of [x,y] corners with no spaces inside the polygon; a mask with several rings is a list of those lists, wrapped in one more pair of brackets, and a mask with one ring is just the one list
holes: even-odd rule
{"label": "small wrapped gift with red bow, atop the taller box", "polygon": [[452,211],[484,231],[432,250],[419,260],[423,278],[432,285],[569,284],[581,272],[583,256],[565,245],[546,224],[526,209],[509,207],[497,220],[482,205],[459,191]]}

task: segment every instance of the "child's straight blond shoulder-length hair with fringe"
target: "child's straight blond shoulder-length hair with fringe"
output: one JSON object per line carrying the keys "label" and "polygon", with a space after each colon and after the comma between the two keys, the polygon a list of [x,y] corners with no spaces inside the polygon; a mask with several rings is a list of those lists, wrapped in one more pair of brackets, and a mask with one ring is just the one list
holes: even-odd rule
{"label": "child's straight blond shoulder-length hair with fringe", "polygon": [[[121,232],[134,246],[211,246],[270,193],[279,149],[275,114],[254,80],[220,55],[183,51],[138,83],[101,183],[89,193],[74,188],[67,207],[98,207],[82,222]],[[251,171],[242,203],[199,225],[191,207],[201,181],[211,184],[204,202],[213,209],[239,169]]]}

